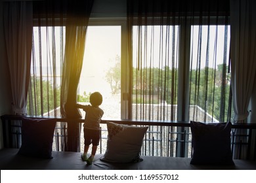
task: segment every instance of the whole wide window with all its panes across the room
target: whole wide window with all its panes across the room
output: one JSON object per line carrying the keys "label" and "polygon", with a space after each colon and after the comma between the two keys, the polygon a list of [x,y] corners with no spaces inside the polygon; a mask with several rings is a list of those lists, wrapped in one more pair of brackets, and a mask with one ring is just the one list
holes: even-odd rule
{"label": "whole wide window with all its panes across the room", "polygon": [[[131,114],[133,120],[226,122],[232,108],[229,32],[228,25],[190,25],[189,29],[182,24],[134,25],[131,69],[126,25],[91,22],[77,99],[86,104],[91,92],[101,92],[103,118],[107,120],[128,119],[127,114]],[[34,27],[28,95],[32,115],[60,116],[64,35],[65,27]],[[184,37],[190,41],[184,42]],[[127,97],[130,90],[131,96]],[[146,137],[147,146],[161,147],[161,152],[154,148],[154,155],[185,152],[184,156],[190,156],[188,146],[174,151],[177,144],[169,139],[176,139],[177,131],[183,133],[186,129],[152,127]]]}

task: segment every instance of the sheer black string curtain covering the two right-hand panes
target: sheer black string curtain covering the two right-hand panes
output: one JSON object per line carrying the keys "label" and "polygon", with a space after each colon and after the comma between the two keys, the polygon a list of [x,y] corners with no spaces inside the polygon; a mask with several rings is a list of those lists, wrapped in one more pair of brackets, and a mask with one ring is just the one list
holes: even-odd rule
{"label": "sheer black string curtain covering the two right-hand panes", "polygon": [[[229,121],[228,24],[229,1],[127,0],[129,118]],[[157,130],[169,139],[175,129]],[[178,145],[167,155],[186,156]]]}

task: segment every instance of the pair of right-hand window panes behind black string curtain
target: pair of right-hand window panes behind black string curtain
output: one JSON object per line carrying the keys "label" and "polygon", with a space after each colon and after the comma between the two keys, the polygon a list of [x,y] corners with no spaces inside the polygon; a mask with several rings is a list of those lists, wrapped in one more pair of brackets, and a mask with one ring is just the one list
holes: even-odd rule
{"label": "pair of right-hand window panes behind black string curtain", "polygon": [[[133,118],[181,120],[177,118],[183,107],[178,105],[182,95],[178,91],[188,88],[187,120],[227,122],[231,110],[230,26],[182,29],[179,25],[133,26]],[[187,31],[190,44],[185,45],[181,37]],[[190,57],[184,59],[181,48],[189,50]],[[183,69],[184,65],[189,68]]]}

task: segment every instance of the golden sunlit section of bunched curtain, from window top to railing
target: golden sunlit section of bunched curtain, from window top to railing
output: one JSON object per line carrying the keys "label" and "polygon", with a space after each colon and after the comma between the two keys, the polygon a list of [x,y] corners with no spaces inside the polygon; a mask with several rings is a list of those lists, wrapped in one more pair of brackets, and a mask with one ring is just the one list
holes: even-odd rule
{"label": "golden sunlit section of bunched curtain, from window top to railing", "polygon": [[[68,20],[74,21],[74,20]],[[85,20],[81,20],[85,21]],[[67,118],[81,118],[75,107],[77,86],[83,65],[87,25],[66,25],[66,47],[62,70],[61,114]]]}

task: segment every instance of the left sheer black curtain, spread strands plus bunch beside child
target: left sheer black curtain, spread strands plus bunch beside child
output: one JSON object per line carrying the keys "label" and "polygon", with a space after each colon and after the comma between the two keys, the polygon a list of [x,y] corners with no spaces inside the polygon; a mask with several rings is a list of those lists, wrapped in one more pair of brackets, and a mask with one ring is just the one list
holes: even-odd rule
{"label": "left sheer black curtain, spread strands plus bunch beside child", "polygon": [[[79,151],[77,85],[93,0],[33,2],[30,114],[68,120],[66,150]],[[64,146],[64,145],[63,145]]]}

